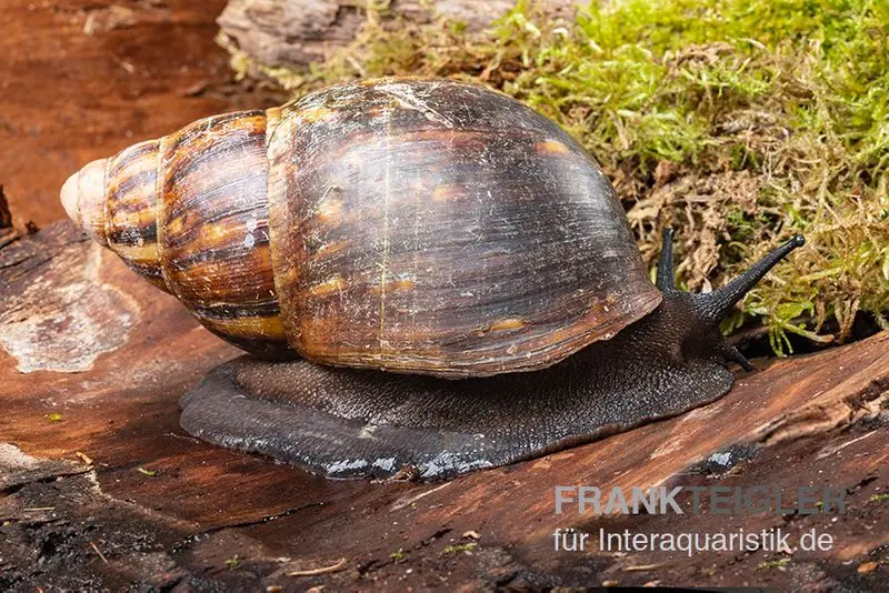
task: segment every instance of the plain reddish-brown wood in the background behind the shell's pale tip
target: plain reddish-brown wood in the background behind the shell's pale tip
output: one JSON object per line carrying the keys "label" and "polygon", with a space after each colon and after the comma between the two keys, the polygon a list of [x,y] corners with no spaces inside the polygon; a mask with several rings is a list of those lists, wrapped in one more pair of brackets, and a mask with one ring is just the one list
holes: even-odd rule
{"label": "plain reddish-brown wood in the background behind the shell's pale tip", "polygon": [[0,183],[17,225],[63,217],[59,188],[87,162],[198,118],[271,107],[228,86],[223,0],[4,0]]}

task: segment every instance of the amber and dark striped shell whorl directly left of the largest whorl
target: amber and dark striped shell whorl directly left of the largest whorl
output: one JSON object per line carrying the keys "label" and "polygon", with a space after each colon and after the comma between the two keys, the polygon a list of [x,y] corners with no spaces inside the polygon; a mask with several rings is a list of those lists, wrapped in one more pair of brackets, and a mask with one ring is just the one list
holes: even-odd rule
{"label": "amber and dark striped shell whorl directly left of the largest whorl", "polygon": [[269,253],[264,112],[199,120],[158,150],[164,282],[226,340],[260,355],[289,352]]}

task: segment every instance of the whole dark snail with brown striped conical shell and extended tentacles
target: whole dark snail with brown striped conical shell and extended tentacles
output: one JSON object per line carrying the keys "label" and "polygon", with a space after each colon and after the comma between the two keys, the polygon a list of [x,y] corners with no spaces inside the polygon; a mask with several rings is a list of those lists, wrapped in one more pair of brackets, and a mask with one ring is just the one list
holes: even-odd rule
{"label": "whole dark snail with brown striped conical shell and extended tentacles", "polygon": [[61,191],[97,241],[252,355],[181,425],[330,478],[450,478],[717,400],[719,321],[801,235],[727,285],[652,284],[599,165],[481,87],[381,79],[211,117]]}

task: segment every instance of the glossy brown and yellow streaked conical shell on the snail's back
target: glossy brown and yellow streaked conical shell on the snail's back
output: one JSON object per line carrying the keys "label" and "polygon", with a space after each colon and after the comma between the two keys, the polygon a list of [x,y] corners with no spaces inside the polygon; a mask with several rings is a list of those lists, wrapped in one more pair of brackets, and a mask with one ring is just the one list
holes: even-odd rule
{"label": "glossy brown and yellow streaked conical shell on the snail's back", "polygon": [[81,224],[260,355],[527,371],[661,299],[589,154],[475,86],[332,87],[200,120],[102,167],[104,195],[80,198]]}

